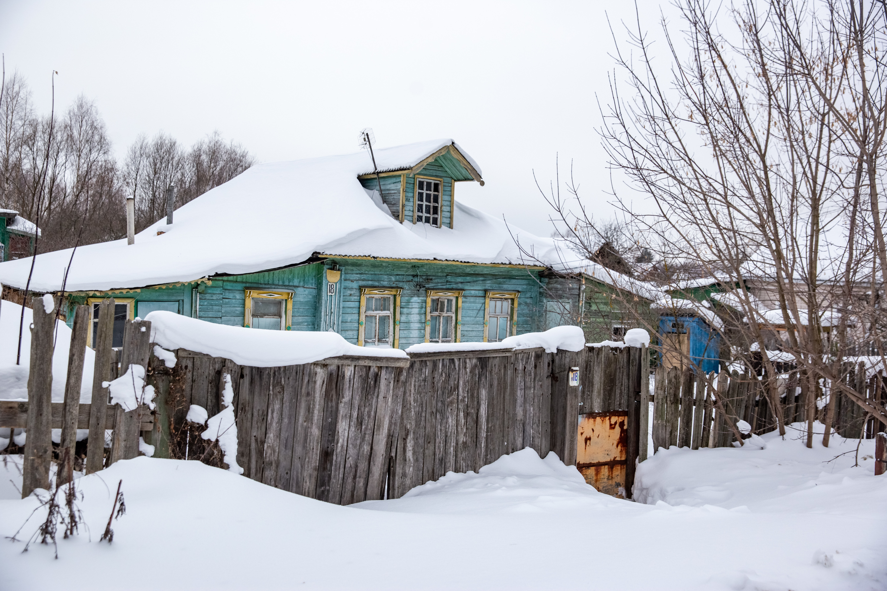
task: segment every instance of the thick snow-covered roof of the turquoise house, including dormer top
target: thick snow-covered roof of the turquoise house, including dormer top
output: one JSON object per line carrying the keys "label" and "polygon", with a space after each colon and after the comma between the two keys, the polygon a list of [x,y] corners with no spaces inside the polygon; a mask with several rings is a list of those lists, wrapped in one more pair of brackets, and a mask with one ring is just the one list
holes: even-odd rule
{"label": "thick snow-covered roof of the turquoise house, including dormer top", "polygon": [[[452,140],[443,139],[377,149],[376,163],[383,169],[415,167],[447,146],[469,159]],[[553,239],[514,227],[509,231],[502,220],[458,200],[454,229],[401,224],[373,204],[358,181],[372,167],[366,151],[251,167],[179,207],[174,224],[163,218],[139,232],[134,245],[123,238],[80,246],[67,290],[106,291],[255,273],[298,264],[315,254],[514,264],[558,260]],[[513,235],[532,249],[532,261],[522,256]],[[40,254],[31,289],[59,291],[70,257],[70,249]],[[30,265],[30,258],[0,263],[0,283],[24,288]]]}

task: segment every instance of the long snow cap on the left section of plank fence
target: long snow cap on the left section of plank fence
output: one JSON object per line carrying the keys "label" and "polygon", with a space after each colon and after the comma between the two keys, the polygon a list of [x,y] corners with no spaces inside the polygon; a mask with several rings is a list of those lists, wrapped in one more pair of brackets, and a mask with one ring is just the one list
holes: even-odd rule
{"label": "long snow cap on the left section of plank fence", "polygon": [[335,332],[247,329],[165,310],[156,310],[145,320],[151,323],[151,342],[164,349],[189,349],[257,368],[302,365],[339,355],[406,358],[400,349],[351,345]]}

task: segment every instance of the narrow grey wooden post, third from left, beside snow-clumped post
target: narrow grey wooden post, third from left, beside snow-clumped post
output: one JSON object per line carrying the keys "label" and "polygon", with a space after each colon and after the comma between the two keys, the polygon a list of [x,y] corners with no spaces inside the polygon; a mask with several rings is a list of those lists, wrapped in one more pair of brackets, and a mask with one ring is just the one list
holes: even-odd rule
{"label": "narrow grey wooden post, third from left, beside snow-clumped post", "polygon": [[[86,473],[98,472],[105,467],[105,415],[108,389],[102,385],[110,382],[111,360],[114,358],[114,298],[103,299],[98,304],[96,340],[96,365],[92,374],[92,404],[90,406],[90,439],[86,446]],[[91,310],[90,310],[91,312]],[[92,315],[90,314],[90,319]]]}

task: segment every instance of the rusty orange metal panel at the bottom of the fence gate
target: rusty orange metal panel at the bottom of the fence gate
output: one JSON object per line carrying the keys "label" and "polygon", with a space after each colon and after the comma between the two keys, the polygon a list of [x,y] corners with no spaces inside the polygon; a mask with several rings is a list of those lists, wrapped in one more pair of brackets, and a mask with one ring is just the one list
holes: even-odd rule
{"label": "rusty orange metal panel at the bottom of the fence gate", "polygon": [[601,493],[625,496],[628,414],[624,411],[579,416],[576,467]]}

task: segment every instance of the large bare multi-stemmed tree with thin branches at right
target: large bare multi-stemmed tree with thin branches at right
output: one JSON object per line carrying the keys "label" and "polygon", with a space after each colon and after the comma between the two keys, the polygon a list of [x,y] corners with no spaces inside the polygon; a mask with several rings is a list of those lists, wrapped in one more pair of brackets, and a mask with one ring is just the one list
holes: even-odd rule
{"label": "large bare multi-stemmed tree with thin branches at right", "polygon": [[[879,303],[887,268],[887,84],[878,53],[887,42],[885,7],[853,0],[677,7],[679,37],[662,20],[669,69],[659,66],[661,51],[655,61],[640,15],[626,29],[631,51],[616,43],[620,78],[612,79],[600,135],[611,167],[654,213],[635,212],[614,187],[616,203],[652,237],[659,257],[686,261],[726,291],[732,312],[714,325],[724,362],[759,374],[782,434],[786,384],[777,369],[786,355],[808,393],[808,446],[823,384],[832,408],[844,393],[887,424],[883,403],[849,384],[844,363],[864,345],[862,326],[881,354],[879,330],[887,326]],[[593,220],[575,184],[546,199],[569,242],[592,252],[595,243],[578,229]],[[666,273],[663,288],[681,293],[686,278]],[[830,425],[828,408],[821,418]]]}

